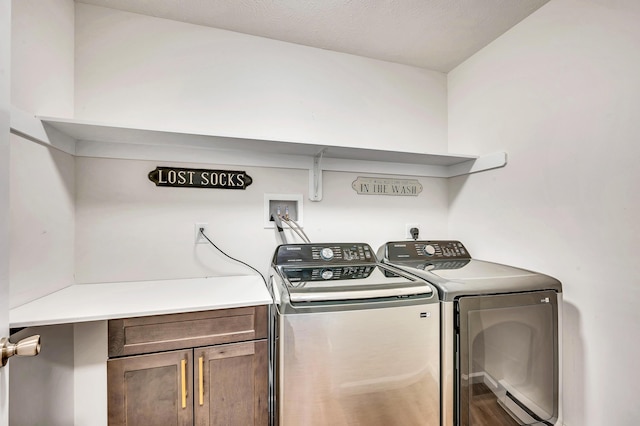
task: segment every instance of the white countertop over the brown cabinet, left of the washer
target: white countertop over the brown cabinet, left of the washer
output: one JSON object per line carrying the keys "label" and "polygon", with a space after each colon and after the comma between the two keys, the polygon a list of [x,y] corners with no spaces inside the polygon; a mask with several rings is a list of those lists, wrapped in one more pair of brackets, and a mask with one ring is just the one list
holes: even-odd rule
{"label": "white countertop over the brown cabinet, left of the washer", "polygon": [[271,296],[258,275],[74,284],[11,309],[9,326],[31,327],[270,303]]}

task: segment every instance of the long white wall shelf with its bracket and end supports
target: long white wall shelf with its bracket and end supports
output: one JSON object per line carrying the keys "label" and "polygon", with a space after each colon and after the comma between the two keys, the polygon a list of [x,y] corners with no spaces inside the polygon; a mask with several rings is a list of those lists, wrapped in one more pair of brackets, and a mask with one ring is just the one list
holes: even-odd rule
{"label": "long white wall shelf with its bracket and end supports", "polygon": [[80,157],[307,169],[312,201],[322,199],[324,170],[449,178],[506,165],[504,152],[478,157],[242,139],[33,117],[16,109],[11,128]]}

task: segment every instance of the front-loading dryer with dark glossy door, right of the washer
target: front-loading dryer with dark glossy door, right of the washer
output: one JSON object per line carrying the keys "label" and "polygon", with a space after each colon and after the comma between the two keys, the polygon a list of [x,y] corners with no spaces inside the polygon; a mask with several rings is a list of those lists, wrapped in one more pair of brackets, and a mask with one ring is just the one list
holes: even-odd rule
{"label": "front-loading dryer with dark glossy door, right of the washer", "polygon": [[459,241],[388,242],[378,258],[437,288],[443,426],[561,420],[558,280],[472,259]]}

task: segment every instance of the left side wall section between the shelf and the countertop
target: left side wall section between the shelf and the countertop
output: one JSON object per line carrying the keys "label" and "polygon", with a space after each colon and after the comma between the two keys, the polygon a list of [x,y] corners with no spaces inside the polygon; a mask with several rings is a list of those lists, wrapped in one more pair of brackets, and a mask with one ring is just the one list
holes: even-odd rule
{"label": "left side wall section between the shelf and the countertop", "polygon": [[75,164],[11,135],[11,307],[74,282]]}

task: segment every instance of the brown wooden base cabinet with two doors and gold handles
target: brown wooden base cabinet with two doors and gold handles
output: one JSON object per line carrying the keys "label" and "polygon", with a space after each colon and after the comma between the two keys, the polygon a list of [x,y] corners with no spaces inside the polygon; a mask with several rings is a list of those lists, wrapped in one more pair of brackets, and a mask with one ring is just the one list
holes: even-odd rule
{"label": "brown wooden base cabinet with two doors and gold handles", "polygon": [[109,321],[109,425],[267,425],[266,334],[266,306]]}

